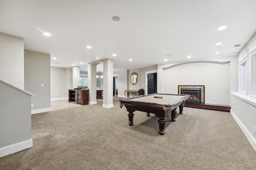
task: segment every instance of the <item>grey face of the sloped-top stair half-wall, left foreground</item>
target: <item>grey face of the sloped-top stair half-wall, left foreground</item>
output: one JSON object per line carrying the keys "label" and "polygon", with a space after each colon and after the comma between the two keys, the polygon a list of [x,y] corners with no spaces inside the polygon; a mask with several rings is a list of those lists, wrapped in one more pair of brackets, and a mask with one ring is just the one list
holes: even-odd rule
{"label": "grey face of the sloped-top stair half-wall, left foreground", "polygon": [[[31,96],[1,81],[0,93],[1,149],[31,139]],[[14,102],[10,102],[14,99],[16,100],[15,105]]]}

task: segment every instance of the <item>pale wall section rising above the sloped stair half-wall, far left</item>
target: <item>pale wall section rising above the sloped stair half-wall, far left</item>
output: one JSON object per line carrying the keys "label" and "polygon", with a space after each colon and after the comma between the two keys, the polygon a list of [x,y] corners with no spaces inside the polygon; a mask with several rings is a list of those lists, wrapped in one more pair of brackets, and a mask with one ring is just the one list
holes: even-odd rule
{"label": "pale wall section rising above the sloped stair half-wall, far left", "polygon": [[24,39],[0,33],[0,61],[0,79],[24,89]]}

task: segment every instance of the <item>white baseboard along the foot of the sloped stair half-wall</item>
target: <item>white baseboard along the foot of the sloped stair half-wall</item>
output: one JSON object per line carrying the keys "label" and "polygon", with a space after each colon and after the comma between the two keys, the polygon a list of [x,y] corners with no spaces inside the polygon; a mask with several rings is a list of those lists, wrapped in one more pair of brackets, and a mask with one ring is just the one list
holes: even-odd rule
{"label": "white baseboard along the foot of the sloped stair half-wall", "polygon": [[33,147],[33,140],[28,139],[19,143],[0,148],[0,157]]}

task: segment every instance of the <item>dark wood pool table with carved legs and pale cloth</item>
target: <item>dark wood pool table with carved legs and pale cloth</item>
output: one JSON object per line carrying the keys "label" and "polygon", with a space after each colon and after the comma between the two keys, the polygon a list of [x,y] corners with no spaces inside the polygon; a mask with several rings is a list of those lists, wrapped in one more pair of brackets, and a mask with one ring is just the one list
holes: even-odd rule
{"label": "dark wood pool table with carved legs and pale cloth", "polygon": [[[155,96],[161,96],[162,98],[155,98]],[[171,120],[176,120],[176,109],[180,107],[180,114],[183,114],[184,102],[189,100],[190,95],[183,94],[148,94],[143,96],[136,96],[132,98],[123,98],[119,99],[120,107],[126,107],[129,118],[129,125],[133,125],[133,116],[134,111],[144,111],[147,116],[150,116],[150,113],[154,113],[156,117],[159,118],[159,133],[164,135],[165,131],[165,117],[170,117]]]}

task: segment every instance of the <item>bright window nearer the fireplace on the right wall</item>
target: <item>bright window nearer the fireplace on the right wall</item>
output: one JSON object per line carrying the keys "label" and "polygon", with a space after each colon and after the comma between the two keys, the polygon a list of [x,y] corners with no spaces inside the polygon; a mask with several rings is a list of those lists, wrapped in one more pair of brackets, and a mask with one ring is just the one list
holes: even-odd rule
{"label": "bright window nearer the fireplace on the right wall", "polygon": [[248,51],[244,51],[244,53],[238,57],[238,92],[244,94],[247,94],[247,53]]}

